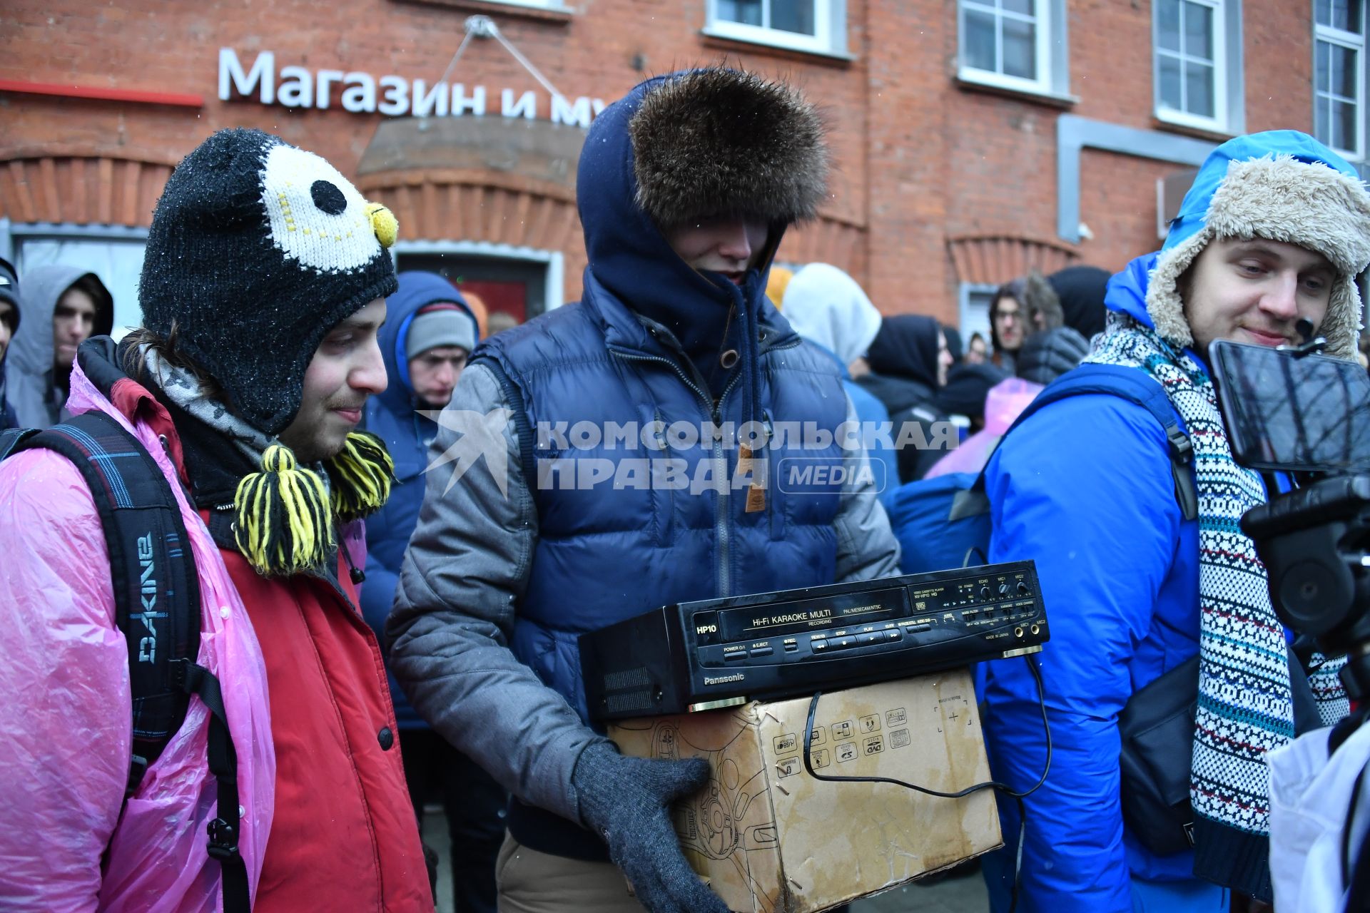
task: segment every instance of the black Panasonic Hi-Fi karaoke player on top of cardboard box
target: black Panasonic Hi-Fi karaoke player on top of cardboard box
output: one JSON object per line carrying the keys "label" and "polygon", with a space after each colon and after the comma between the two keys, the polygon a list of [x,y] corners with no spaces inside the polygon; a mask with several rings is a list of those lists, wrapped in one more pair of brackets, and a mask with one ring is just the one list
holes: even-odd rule
{"label": "black Panasonic Hi-Fi karaoke player on top of cardboard box", "polygon": [[901,679],[1036,653],[1048,638],[1032,561],[662,606],[582,634],[601,720]]}

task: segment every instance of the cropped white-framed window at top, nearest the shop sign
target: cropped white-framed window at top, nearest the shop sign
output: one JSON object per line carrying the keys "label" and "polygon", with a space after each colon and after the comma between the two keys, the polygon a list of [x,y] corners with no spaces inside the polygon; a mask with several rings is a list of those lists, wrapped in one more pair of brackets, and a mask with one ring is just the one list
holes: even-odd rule
{"label": "cropped white-framed window at top, nearest the shop sign", "polygon": [[704,34],[847,55],[845,0],[706,0]]}

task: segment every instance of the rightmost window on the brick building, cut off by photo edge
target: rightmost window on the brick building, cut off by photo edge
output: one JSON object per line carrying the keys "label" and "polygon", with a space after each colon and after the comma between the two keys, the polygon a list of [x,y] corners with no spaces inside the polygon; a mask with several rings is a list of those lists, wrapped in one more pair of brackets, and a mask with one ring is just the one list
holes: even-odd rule
{"label": "rightmost window on the brick building, cut off by photo edge", "polygon": [[1314,3],[1314,133],[1349,159],[1365,157],[1366,1]]}

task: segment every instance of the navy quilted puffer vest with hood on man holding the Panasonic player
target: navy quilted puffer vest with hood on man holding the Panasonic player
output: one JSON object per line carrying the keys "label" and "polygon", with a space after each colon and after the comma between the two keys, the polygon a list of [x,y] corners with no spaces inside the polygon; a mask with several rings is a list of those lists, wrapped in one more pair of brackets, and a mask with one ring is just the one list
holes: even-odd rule
{"label": "navy quilted puffer vest with hood on man holding the Panasonic player", "polygon": [[[749,271],[741,286],[696,272],[634,205],[626,123],[649,86],[607,108],[581,153],[577,197],[589,253],[581,301],[492,337],[478,346],[475,361],[499,370],[507,398],[522,402],[533,438],[540,424],[566,430],[578,422],[597,428],[610,422],[632,422],[638,430],[653,423],[741,427],[751,417],[745,378],[732,378],[715,404],[670,334],[637,315],[747,308],[760,349],[758,420],[773,428],[808,422],[832,433],[847,419],[841,375],[766,301],[766,270]],[[745,360],[737,371],[744,370]],[[840,487],[781,486],[775,478],[789,457],[840,460],[836,442],[771,449],[775,478],[766,506],[748,513],[745,490],[722,497],[703,487],[706,479],[727,486],[734,478],[738,450],[727,441],[667,437],[664,449],[634,439],[627,448],[601,441],[567,450],[553,434],[541,442],[521,435],[521,443],[547,446],[525,459],[538,535],[511,647],[582,719],[581,632],[670,602],[834,580]],[[584,490],[562,487],[549,468],[558,457],[573,457],[578,472],[607,468],[615,478]],[[684,479],[685,487],[629,479],[643,460],[656,464],[651,471]]]}

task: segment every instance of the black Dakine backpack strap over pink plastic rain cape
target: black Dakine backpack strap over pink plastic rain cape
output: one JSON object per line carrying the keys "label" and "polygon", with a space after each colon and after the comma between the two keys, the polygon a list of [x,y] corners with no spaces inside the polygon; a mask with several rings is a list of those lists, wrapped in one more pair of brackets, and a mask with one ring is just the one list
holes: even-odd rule
{"label": "black Dakine backpack strap over pink plastic rain cape", "polygon": [[229,738],[219,680],[195,660],[200,649],[200,580],[171,486],[142,443],[100,411],[47,430],[0,431],[0,460],[42,448],[81,471],[100,512],[110,550],[115,619],[129,646],[133,757],[125,799],[181,728],[190,695],[211,713],[210,772],[218,817],[208,853],[223,869],[223,910],[251,908],[247,865],[238,853],[237,753]]}

